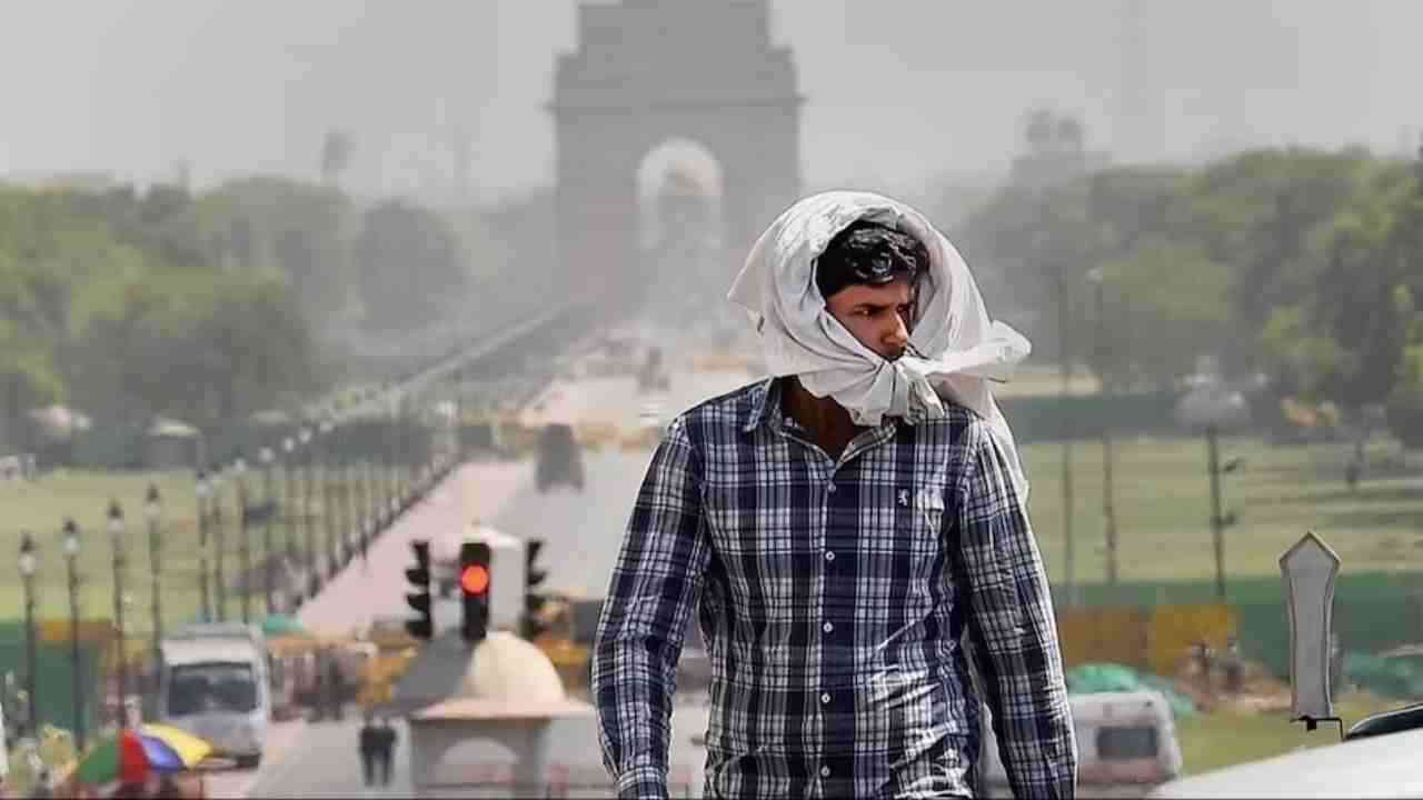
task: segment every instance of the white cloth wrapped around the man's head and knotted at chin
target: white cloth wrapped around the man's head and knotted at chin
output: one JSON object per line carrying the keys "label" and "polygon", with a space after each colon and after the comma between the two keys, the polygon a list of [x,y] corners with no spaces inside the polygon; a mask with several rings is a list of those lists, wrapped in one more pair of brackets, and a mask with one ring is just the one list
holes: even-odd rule
{"label": "white cloth wrapped around the man's head and knotted at chin", "polygon": [[[831,316],[815,286],[815,259],[861,219],[909,233],[929,251],[909,336],[916,354],[889,362],[865,347]],[[918,211],[872,192],[804,198],[757,239],[727,298],[751,316],[770,374],[798,377],[811,394],[844,406],[855,424],[878,426],[885,416],[908,424],[938,419],[943,399],[983,417],[1026,498],[1013,431],[989,383],[1006,381],[1032,346],[988,316],[963,258]]]}

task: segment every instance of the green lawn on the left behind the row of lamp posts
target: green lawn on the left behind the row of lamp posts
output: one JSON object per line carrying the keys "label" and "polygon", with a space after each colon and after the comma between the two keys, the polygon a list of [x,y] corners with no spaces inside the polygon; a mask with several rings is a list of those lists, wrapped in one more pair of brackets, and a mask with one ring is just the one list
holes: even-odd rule
{"label": "green lawn on the left behind the row of lamp posts", "polygon": [[[125,628],[142,638],[152,629],[154,571],[149,561],[148,521],[144,515],[144,497],[148,485],[155,484],[162,497],[161,554],[162,568],[158,591],[161,614],[165,625],[175,625],[196,618],[201,604],[198,591],[198,501],[194,477],[186,471],[172,473],[88,473],[60,471],[46,475],[37,483],[0,484],[0,552],[14,558],[18,551],[20,532],[33,531],[38,545],[38,569],[36,572],[36,604],[40,619],[68,619],[67,569],[61,527],[73,517],[80,528],[78,571],[81,575],[80,608],[84,618],[111,618],[114,611],[114,549],[111,545],[107,512],[110,498],[117,498],[124,510],[128,565],[125,571]],[[260,473],[248,473],[249,502],[263,500]],[[276,497],[285,498],[285,480],[279,470],[273,474]],[[320,493],[316,491],[312,507],[317,547],[324,542],[320,517]],[[223,577],[225,584],[235,586],[240,575],[240,547],[236,520],[238,501],[232,481],[226,481],[222,493],[223,517]],[[279,518],[272,525],[273,548],[285,547],[293,535],[295,520]],[[209,528],[211,541],[216,542],[215,531]],[[249,557],[256,565],[262,555],[262,528],[252,531]],[[16,619],[23,615],[23,594],[14,562],[4,569],[0,581],[0,619]],[[209,562],[209,574],[213,564]],[[14,577],[11,579],[11,577]],[[209,585],[212,578],[209,575]],[[239,619],[240,601],[235,591],[226,596],[228,619]],[[250,609],[255,619],[265,612],[262,584],[252,585]]]}

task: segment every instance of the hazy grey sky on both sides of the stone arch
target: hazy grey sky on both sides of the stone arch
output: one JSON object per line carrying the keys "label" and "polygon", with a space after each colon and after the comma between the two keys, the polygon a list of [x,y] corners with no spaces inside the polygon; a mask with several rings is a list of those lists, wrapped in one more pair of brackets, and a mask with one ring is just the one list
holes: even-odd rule
{"label": "hazy grey sky on both sides of the stone arch", "polygon": [[[686,0],[680,0],[686,1]],[[697,0],[716,1],[716,0]],[[1114,144],[1128,0],[776,0],[795,56],[813,186],[915,191],[1002,169],[1035,102]],[[555,57],[575,0],[0,0],[0,174],[192,162],[206,184],[313,177],[323,132],[356,138],[353,185],[401,189],[448,169],[411,154],[465,125],[487,196],[548,185]],[[1403,147],[1423,122],[1423,3],[1144,0],[1128,74],[1151,101],[1151,152],[1241,142]],[[1413,134],[1416,135],[1416,134]]]}

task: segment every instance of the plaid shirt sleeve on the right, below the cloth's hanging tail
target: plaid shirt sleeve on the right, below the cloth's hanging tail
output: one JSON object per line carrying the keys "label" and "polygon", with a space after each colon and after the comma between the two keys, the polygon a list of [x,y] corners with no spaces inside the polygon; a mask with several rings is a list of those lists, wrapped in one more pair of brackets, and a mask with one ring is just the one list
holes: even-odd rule
{"label": "plaid shirt sleeve on the right, below the cloth's hanging tail", "polygon": [[956,571],[999,757],[1016,797],[1070,799],[1077,742],[1047,574],[998,437],[975,421],[968,446]]}

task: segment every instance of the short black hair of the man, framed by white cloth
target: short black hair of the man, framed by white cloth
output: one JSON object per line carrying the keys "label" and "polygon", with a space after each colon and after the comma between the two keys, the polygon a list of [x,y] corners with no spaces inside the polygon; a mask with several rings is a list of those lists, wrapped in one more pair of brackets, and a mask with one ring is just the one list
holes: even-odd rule
{"label": "short black hair of the man, framed by white cloth", "polygon": [[852,222],[815,259],[815,286],[830,299],[845,286],[881,286],[895,278],[914,283],[929,269],[924,242],[879,222]]}

